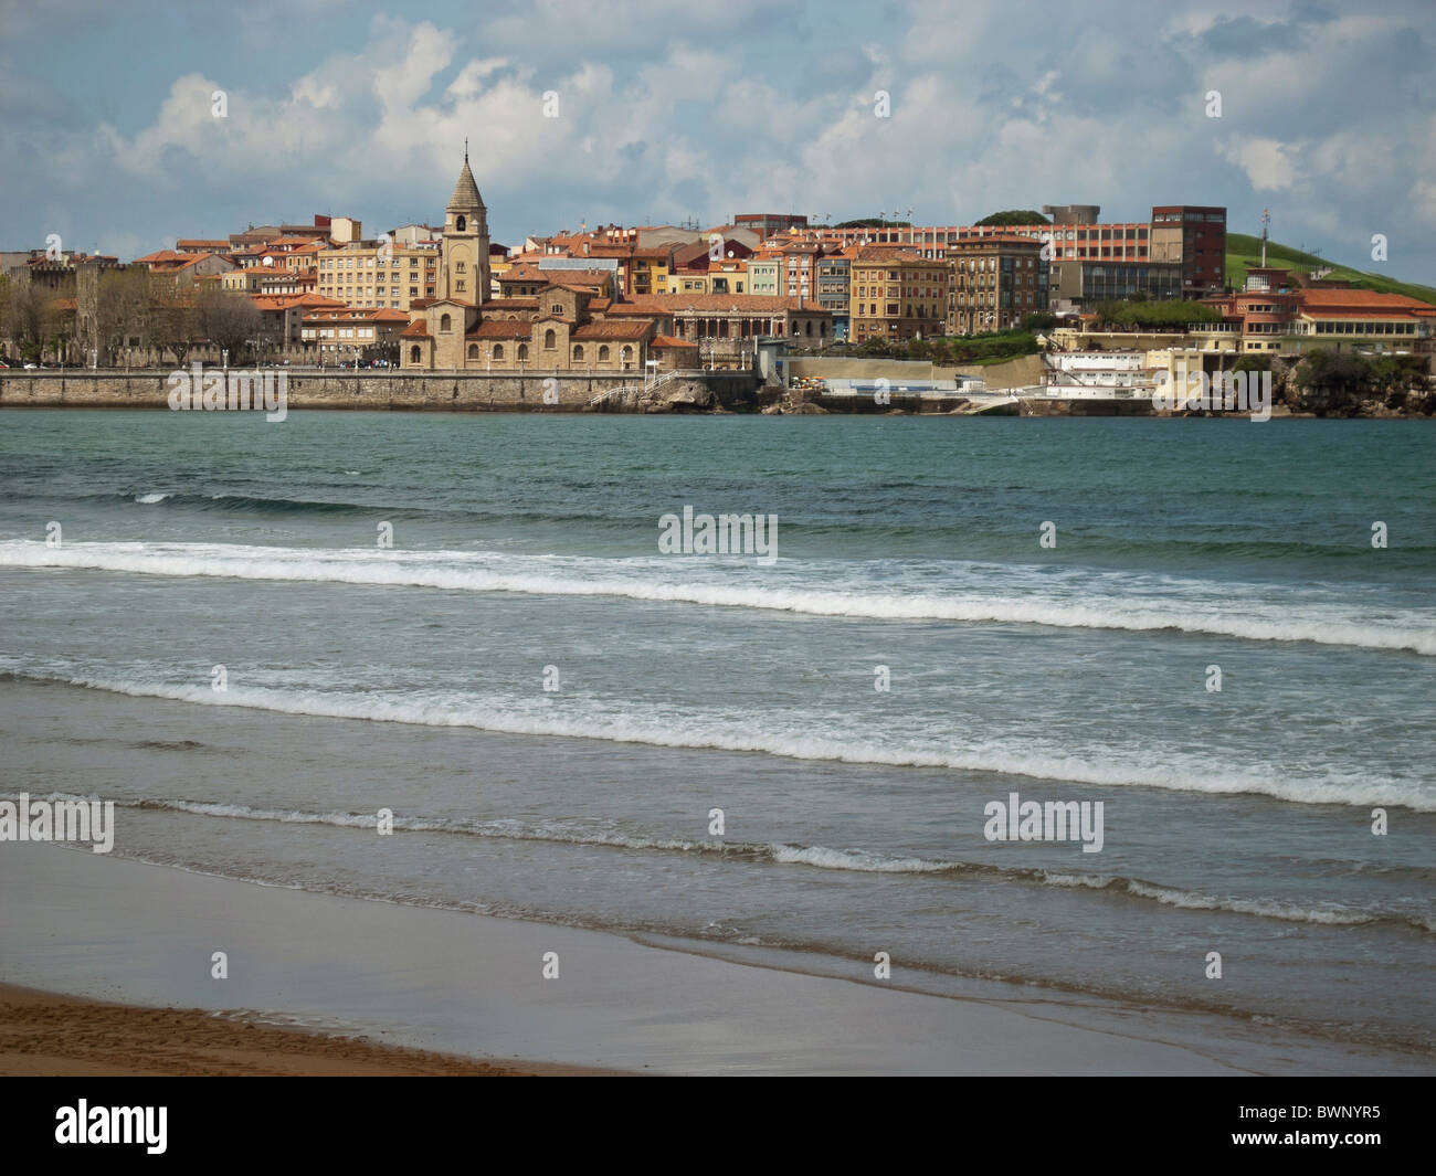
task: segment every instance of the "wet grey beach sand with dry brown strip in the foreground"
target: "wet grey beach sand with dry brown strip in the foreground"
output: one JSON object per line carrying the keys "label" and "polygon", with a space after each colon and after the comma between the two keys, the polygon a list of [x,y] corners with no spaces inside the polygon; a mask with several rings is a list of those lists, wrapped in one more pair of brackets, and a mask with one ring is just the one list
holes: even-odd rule
{"label": "wet grey beach sand with dry brown strip in the foreground", "polygon": [[[999,984],[974,999],[938,998],[859,981],[872,975],[862,963],[852,978],[804,975],[778,959],[747,966],[619,935],[257,886],[53,846],[7,844],[0,887],[6,982],[149,1007],[7,995],[7,1073],[544,1068],[527,1058],[669,1074],[1425,1068],[1419,1058],[1228,1018]],[[225,979],[211,975],[215,951],[227,953]],[[543,976],[549,952],[559,961],[553,979]],[[273,1027],[248,1028],[266,1021]],[[333,1034],[482,1063],[396,1054]],[[248,1047],[251,1037],[263,1051]]]}

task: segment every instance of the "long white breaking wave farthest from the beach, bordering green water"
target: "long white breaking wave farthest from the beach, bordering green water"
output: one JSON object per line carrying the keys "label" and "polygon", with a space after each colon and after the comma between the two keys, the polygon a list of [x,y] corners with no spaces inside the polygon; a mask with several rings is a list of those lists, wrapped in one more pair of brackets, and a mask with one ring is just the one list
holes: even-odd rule
{"label": "long white breaking wave farthest from the beach, bordering green water", "polygon": [[[1436,656],[1436,625],[1406,613],[1397,623],[1361,620],[1330,609],[1268,609],[1182,599],[1132,603],[1111,596],[936,594],[833,592],[787,579],[760,587],[655,579],[662,560],[544,560],[457,551],[284,549],[218,544],[92,543],[47,547],[0,543],[0,566],[63,567],[171,577],[228,577],[429,587],[478,593],[625,597],[653,603],[763,609],[872,620],[951,620],[1058,629],[1205,633],[1244,640],[1311,642]],[[681,563],[681,561],[679,561]],[[508,564],[517,564],[510,569]],[[640,564],[640,566],[639,566]],[[684,569],[691,571],[692,569]],[[669,573],[672,574],[672,573]]]}

